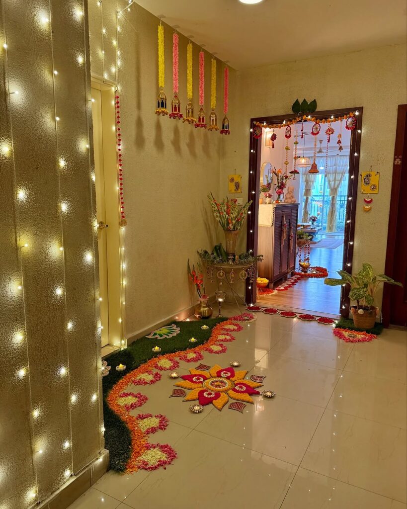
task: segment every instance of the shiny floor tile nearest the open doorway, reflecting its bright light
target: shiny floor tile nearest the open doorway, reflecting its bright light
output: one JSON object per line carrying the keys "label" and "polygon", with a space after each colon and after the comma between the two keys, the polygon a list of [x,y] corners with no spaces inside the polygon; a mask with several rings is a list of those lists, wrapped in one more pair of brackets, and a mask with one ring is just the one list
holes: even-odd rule
{"label": "shiny floor tile nearest the open doorway, reflecting its bright light", "polygon": [[271,353],[297,359],[312,364],[334,367],[342,370],[354,347],[353,343],[345,343],[333,334],[328,338],[311,334],[296,333],[296,328],[289,335],[283,335],[271,349]]}

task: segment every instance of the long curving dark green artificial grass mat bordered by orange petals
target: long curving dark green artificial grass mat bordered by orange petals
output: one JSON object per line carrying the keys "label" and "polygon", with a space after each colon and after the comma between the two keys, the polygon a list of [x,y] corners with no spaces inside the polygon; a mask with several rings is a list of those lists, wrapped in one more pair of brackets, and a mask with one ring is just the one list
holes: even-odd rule
{"label": "long curving dark green artificial grass mat bordered by orange petals", "polygon": [[[225,320],[226,318],[210,318],[190,322],[170,322],[180,327],[180,332],[176,336],[162,339],[151,339],[143,336],[124,350],[114,352],[105,358],[107,364],[111,366],[109,375],[102,379],[105,447],[109,451],[110,468],[112,470],[123,472],[126,469],[131,454],[131,437],[125,422],[110,409],[106,402],[110,389],[125,375],[153,357],[182,352],[206,343],[211,337],[214,326]],[[209,329],[202,330],[201,326],[203,324],[208,325]],[[188,341],[191,337],[198,340],[193,345]],[[156,345],[161,348],[161,352],[154,353],[152,351],[152,348]],[[116,366],[120,363],[126,366],[125,371],[116,371]]]}

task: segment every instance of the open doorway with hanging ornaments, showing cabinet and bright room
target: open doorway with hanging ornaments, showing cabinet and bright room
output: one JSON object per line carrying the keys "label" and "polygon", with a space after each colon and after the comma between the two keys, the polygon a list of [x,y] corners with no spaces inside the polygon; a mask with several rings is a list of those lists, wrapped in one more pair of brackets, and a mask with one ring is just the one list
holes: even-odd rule
{"label": "open doorway with hanging ornaments, showing cabinet and bright room", "polygon": [[[357,111],[354,129],[334,121],[350,111]],[[252,119],[249,194],[255,203],[248,248],[265,259],[257,288],[247,288],[248,302],[332,317],[347,311],[345,289],[325,286],[324,278],[352,268],[361,116],[362,108],[313,114],[333,119],[321,120],[316,134],[310,119],[286,131],[293,115]],[[276,124],[281,127],[267,127]],[[284,175],[289,179],[278,196],[276,184]],[[282,203],[275,205],[278,199]]]}

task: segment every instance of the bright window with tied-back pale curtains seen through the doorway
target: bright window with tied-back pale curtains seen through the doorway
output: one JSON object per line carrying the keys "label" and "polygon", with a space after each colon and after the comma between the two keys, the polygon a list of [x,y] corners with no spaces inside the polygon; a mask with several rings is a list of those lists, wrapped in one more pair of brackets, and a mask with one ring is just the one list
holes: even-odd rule
{"label": "bright window with tied-back pale curtains seen through the doorway", "polygon": [[318,217],[317,226],[322,232],[343,233],[345,227],[347,184],[349,174],[348,155],[328,157],[325,177],[325,156],[317,157],[318,174],[309,174],[308,169],[301,173],[302,222],[309,217]]}

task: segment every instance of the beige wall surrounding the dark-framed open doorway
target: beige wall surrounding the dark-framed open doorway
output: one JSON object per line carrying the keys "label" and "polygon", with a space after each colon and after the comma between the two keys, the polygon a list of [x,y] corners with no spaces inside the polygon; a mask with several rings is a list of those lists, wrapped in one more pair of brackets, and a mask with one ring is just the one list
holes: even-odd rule
{"label": "beige wall surrounding the dark-framed open doorway", "polygon": [[362,262],[369,262],[377,271],[383,271],[397,105],[407,100],[406,46],[247,70],[238,76],[234,97],[230,108],[233,130],[222,150],[223,192],[230,168],[237,168],[245,176],[243,189],[247,192],[250,118],[287,114],[295,99],[301,101],[304,97],[316,98],[318,110],[363,106],[360,171],[370,166],[380,171],[380,190],[369,213],[362,211],[363,199],[358,193],[354,267],[358,270]]}

